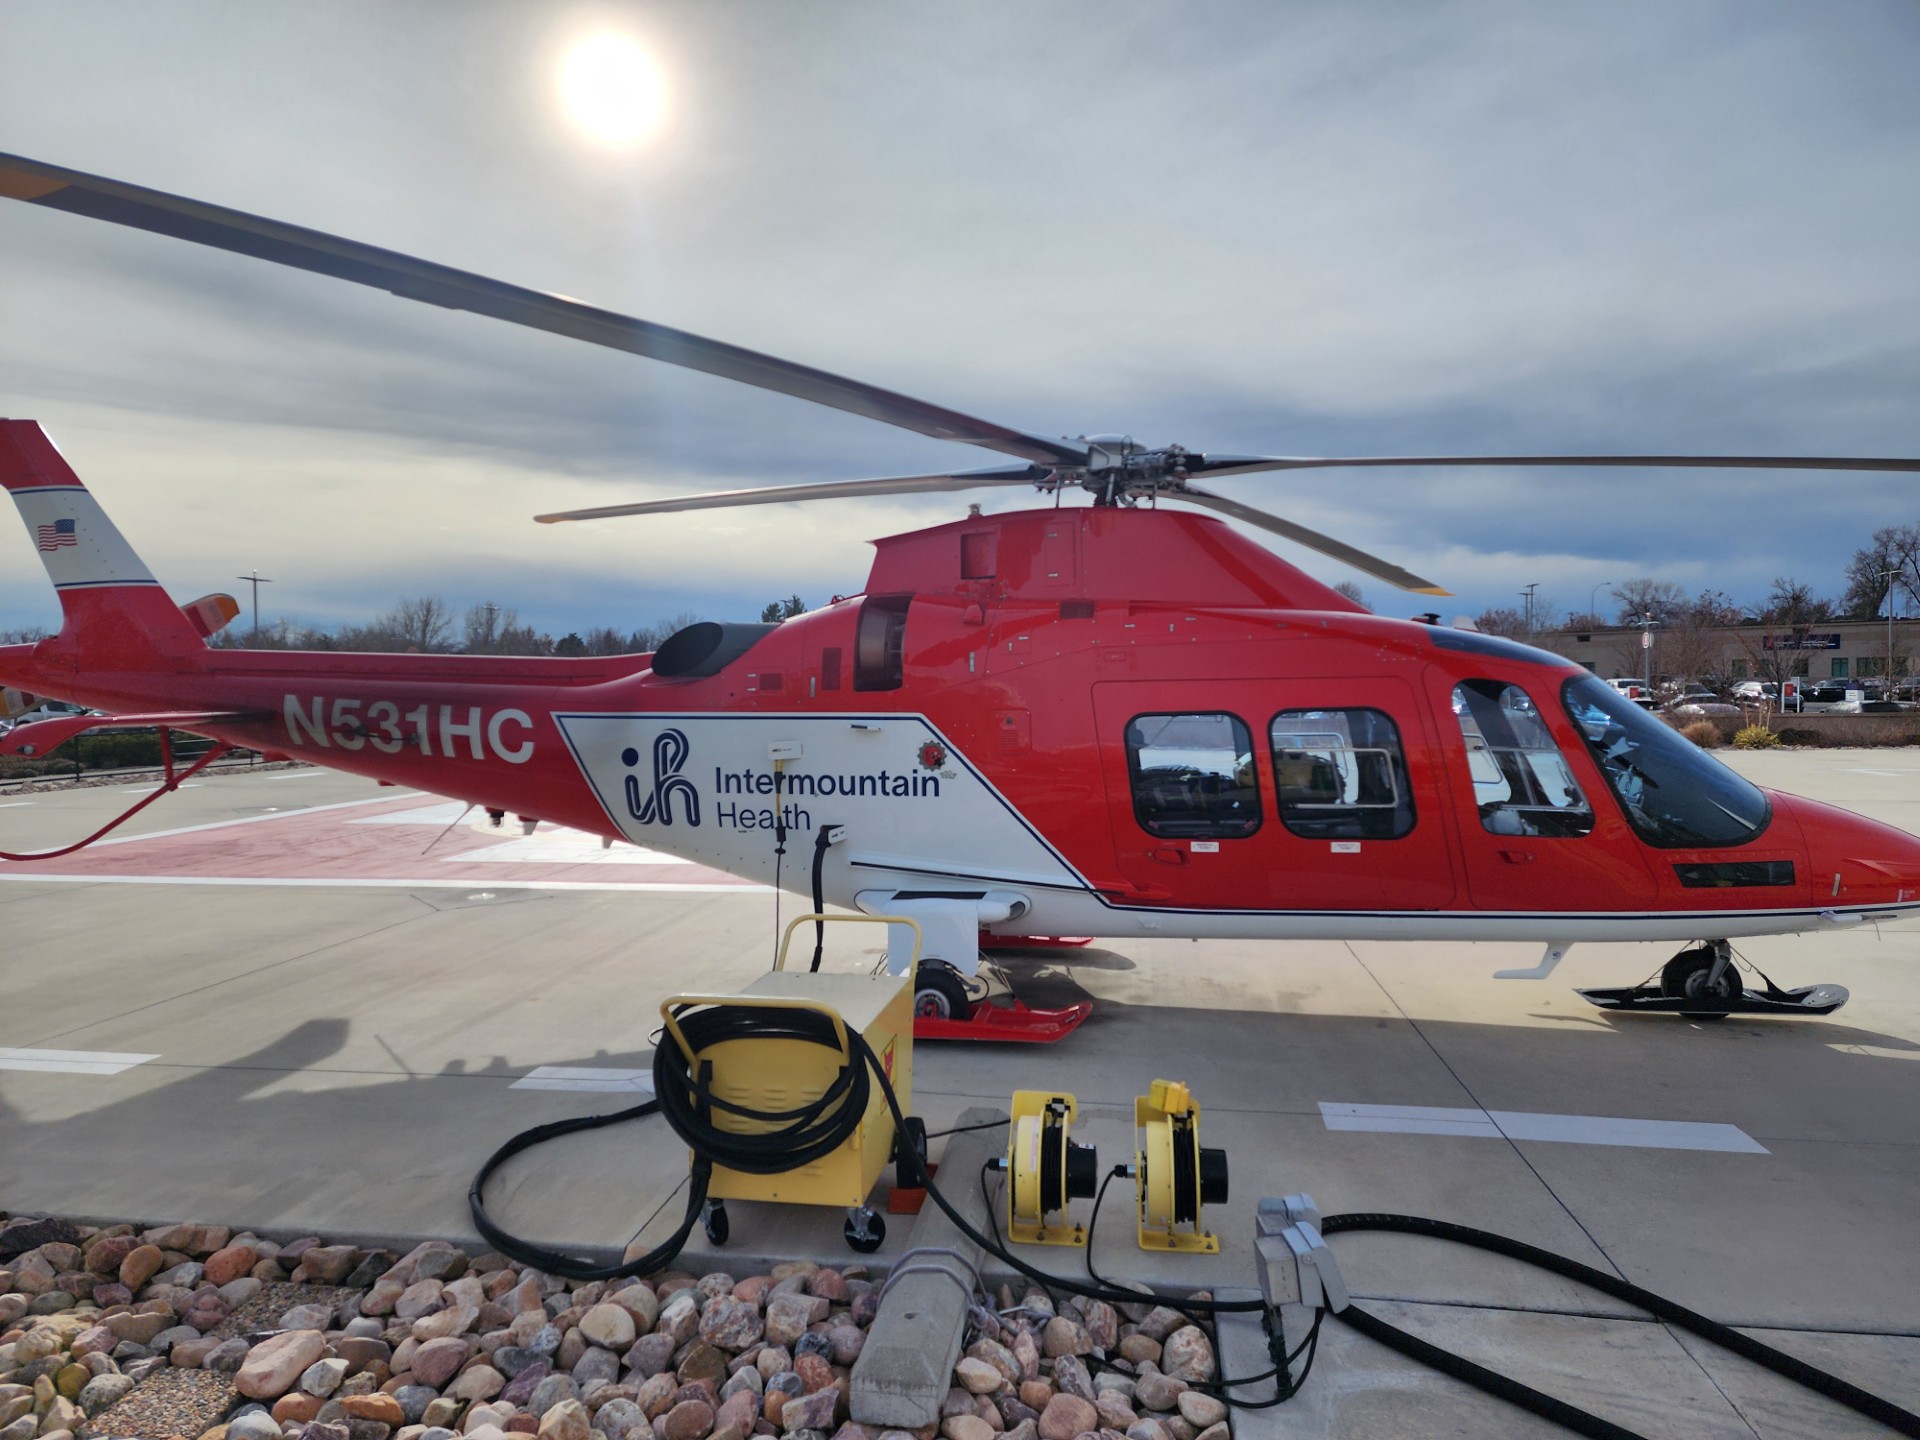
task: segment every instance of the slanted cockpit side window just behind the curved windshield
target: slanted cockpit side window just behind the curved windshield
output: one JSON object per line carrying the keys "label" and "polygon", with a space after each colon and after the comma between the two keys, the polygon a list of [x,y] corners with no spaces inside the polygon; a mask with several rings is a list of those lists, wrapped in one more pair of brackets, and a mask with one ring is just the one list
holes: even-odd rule
{"label": "slanted cockpit side window just behind the curved windshield", "polygon": [[[1599,685],[1592,678],[1588,684]],[[1453,687],[1453,716],[1467,741],[1480,824],[1490,833],[1565,837],[1594,829],[1594,806],[1532,695],[1505,680],[1465,680]]]}

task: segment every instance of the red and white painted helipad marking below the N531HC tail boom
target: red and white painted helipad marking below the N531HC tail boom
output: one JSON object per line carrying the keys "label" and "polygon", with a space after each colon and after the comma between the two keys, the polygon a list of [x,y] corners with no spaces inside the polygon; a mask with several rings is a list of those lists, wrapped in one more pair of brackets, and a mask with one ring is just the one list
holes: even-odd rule
{"label": "red and white painted helipad marking below the N531HC tail boom", "polygon": [[[399,795],[244,816],[106,841],[44,862],[0,862],[0,879],[146,885],[380,885],[612,891],[735,891],[762,885],[578,829],[511,820],[472,828],[459,801]],[[484,824],[484,818],[482,822]]]}

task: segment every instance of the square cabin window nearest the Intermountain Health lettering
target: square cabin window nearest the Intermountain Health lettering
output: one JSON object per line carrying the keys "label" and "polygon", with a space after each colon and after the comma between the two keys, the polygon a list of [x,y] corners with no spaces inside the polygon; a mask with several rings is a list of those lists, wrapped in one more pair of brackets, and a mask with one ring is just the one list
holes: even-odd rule
{"label": "square cabin window nearest the Intermountain Health lettering", "polygon": [[1140,714],[1127,722],[1133,814],[1148,835],[1235,839],[1260,829],[1254,732],[1236,714]]}

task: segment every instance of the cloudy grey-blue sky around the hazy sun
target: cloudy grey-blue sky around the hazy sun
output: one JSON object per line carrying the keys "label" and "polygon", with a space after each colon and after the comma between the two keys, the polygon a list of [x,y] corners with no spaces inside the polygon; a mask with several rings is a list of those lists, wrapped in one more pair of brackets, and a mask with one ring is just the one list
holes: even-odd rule
{"label": "cloudy grey-blue sky around the hazy sun", "polygon": [[[564,106],[599,33],[662,79],[639,142]],[[0,150],[1043,434],[1920,455],[1916,65],[1905,0],[8,0]],[[324,626],[417,593],[555,632],[818,603],[968,497],[528,516],[1002,459],[4,202],[0,415],[48,424],[180,599],[257,568],[265,620]],[[1914,476],[1229,486],[1469,614],[1642,574],[1837,593],[1874,528],[1920,520]],[[0,628],[56,614],[0,528]]]}

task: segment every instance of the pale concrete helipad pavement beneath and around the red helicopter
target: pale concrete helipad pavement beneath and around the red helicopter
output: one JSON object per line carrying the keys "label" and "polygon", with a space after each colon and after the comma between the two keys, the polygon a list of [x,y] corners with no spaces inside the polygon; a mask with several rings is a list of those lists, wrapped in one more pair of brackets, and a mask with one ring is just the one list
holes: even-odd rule
{"label": "pale concrete helipad pavement beneath and around the red helicopter", "polygon": [[[1916,753],[1734,764],[1920,831]],[[86,833],[134,799],[119,789],[0,795],[0,849]],[[205,778],[121,845],[0,866],[0,1208],[470,1235],[467,1183],[501,1139],[632,1104],[660,998],[770,962],[766,889],[511,818],[480,833],[459,810],[313,770]],[[1106,1167],[1131,1148],[1133,1096],[1188,1081],[1231,1156],[1233,1204],[1210,1212],[1225,1254],[1144,1258],[1116,1183],[1110,1277],[1250,1283],[1254,1200],[1311,1190],[1329,1213],[1561,1250],[1920,1407],[1920,933],[1741,945],[1784,985],[1847,985],[1824,1021],[1695,1025],[1572,995],[1665,948],[1580,947],[1530,983],[1490,979],[1538,958],[1496,945],[1029,952],[1006,966],[1021,991],[1091,996],[1092,1020],[1044,1050],[920,1046],[916,1108],[939,1129],[1016,1087],[1068,1089]],[[643,1121],[513,1162],[495,1213],[622,1246],[657,1212],[645,1235],[670,1227],[684,1177],[682,1146]],[[733,1250],[845,1254],[837,1212],[732,1212]],[[904,1236],[897,1219],[879,1260]],[[1880,1432],[1507,1261],[1334,1246],[1377,1311],[1649,1434]],[[1332,1325],[1271,1415],[1288,1434],[1551,1432]]]}

